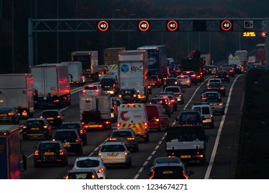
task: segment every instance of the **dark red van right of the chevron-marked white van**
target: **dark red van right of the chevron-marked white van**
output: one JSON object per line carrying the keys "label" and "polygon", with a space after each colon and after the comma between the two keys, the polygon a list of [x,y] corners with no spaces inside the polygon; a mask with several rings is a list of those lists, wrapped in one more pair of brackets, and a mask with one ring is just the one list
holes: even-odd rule
{"label": "dark red van right of the chevron-marked white van", "polygon": [[146,105],[146,111],[148,115],[148,129],[150,131],[157,130],[161,132],[161,130],[166,130],[169,127],[168,115],[162,105]]}

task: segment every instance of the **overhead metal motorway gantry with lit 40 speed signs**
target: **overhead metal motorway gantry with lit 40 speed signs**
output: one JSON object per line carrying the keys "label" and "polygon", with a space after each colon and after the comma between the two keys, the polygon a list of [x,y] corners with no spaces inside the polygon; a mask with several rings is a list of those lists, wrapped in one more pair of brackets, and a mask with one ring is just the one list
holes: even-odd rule
{"label": "overhead metal motorway gantry with lit 40 speed signs", "polygon": [[[199,19],[28,19],[28,59],[33,65],[33,34],[38,32],[268,32],[268,18]],[[267,25],[268,26],[268,25]],[[266,36],[268,39],[268,36]],[[268,53],[268,52],[267,52]],[[268,60],[266,60],[268,61]]]}

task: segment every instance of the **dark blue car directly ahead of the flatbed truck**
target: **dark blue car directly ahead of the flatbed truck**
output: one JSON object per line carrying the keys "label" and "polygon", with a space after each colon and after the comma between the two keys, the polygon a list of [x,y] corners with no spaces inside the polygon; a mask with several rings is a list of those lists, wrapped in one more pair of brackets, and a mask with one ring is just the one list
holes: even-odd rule
{"label": "dark blue car directly ahead of the flatbed truck", "polygon": [[201,113],[196,110],[183,110],[179,112],[179,116],[177,116],[176,121],[177,125],[179,126],[195,126],[203,128],[203,119]]}

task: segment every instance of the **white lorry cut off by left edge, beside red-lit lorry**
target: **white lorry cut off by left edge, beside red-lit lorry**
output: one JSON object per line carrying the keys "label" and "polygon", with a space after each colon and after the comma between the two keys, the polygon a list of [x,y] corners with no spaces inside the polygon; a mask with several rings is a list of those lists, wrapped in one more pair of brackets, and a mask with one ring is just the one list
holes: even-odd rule
{"label": "white lorry cut off by left edge, beside red-lit lorry", "polygon": [[0,74],[0,105],[12,106],[20,117],[34,114],[32,74]]}

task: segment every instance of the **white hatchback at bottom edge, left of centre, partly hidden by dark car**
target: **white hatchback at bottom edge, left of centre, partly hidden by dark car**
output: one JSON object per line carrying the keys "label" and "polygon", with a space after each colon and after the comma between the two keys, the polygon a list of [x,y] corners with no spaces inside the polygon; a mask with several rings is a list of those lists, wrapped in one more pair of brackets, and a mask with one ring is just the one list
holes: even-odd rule
{"label": "white hatchback at bottom edge, left of centre, partly hidden by dark car", "polygon": [[99,156],[83,156],[78,157],[74,161],[72,170],[95,170],[99,179],[107,179],[108,169],[103,164],[103,160]]}

